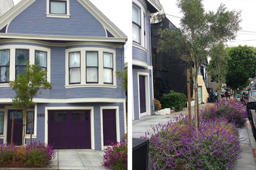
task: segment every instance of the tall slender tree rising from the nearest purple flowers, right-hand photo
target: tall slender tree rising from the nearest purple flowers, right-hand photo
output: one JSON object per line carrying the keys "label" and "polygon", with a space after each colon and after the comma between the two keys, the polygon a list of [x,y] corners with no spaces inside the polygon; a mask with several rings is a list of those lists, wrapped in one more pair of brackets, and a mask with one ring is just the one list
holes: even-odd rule
{"label": "tall slender tree rising from the nearest purple flowers, right-hand photo", "polygon": [[181,59],[194,63],[195,122],[199,127],[198,70],[213,44],[236,37],[240,12],[227,11],[223,4],[215,13],[205,12],[202,0],[177,0],[177,5],[183,14],[181,28],[160,31],[163,37],[160,50],[176,48]]}

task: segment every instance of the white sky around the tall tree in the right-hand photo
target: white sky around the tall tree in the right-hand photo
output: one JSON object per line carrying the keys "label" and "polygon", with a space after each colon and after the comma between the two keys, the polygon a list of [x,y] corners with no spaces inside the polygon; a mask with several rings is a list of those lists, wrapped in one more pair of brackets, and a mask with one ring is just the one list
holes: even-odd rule
{"label": "white sky around the tall tree in the right-hand photo", "polygon": [[[160,0],[161,5],[167,18],[176,26],[179,27],[180,18],[182,14],[180,9],[177,7],[176,0]],[[233,41],[227,43],[228,46],[238,46],[245,44],[247,46],[256,47],[256,22],[254,16],[256,16],[256,1],[255,0],[204,0],[203,5],[205,11],[212,10],[216,12],[219,5],[223,3],[226,5],[227,10],[241,10],[242,22],[240,27],[241,31],[238,31],[237,37]],[[172,15],[172,16],[171,16]],[[175,17],[176,16],[176,17]],[[179,18],[177,18],[179,17]]]}

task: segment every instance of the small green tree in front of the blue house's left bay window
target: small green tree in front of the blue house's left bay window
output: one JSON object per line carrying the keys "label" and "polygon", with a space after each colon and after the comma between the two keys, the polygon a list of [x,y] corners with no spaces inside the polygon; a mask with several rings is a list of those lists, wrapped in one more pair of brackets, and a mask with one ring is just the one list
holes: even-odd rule
{"label": "small green tree in front of the blue house's left bay window", "polygon": [[26,67],[24,75],[17,75],[16,80],[10,81],[12,90],[15,90],[16,96],[12,98],[12,106],[22,110],[23,135],[22,146],[24,146],[26,135],[26,117],[27,110],[34,105],[33,97],[37,95],[37,91],[42,89],[51,89],[51,83],[47,81],[47,71],[41,69],[37,65],[29,65]]}

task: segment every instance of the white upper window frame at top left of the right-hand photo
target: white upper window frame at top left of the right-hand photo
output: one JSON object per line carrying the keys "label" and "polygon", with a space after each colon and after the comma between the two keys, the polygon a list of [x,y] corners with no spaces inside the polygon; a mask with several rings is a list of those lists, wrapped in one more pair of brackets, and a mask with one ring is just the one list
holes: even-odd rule
{"label": "white upper window frame at top left of the right-hand photo", "polygon": [[144,7],[139,3],[139,1],[134,0],[133,5],[136,5],[140,8],[140,43],[133,41],[133,45],[146,48],[146,35],[144,35],[144,33],[146,34],[146,12],[144,10]]}

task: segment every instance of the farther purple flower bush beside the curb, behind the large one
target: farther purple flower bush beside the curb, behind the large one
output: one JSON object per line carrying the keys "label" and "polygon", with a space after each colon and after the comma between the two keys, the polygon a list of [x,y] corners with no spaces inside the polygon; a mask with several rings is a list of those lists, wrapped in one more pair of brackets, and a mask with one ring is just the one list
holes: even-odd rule
{"label": "farther purple flower bush beside the curb, behind the large one", "polygon": [[238,127],[244,126],[247,118],[247,111],[242,103],[238,103],[234,99],[221,100],[221,103],[215,105],[208,105],[205,109],[201,110],[200,116],[203,120],[214,118],[226,118],[229,122],[233,122]]}

